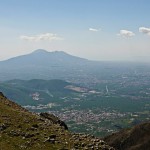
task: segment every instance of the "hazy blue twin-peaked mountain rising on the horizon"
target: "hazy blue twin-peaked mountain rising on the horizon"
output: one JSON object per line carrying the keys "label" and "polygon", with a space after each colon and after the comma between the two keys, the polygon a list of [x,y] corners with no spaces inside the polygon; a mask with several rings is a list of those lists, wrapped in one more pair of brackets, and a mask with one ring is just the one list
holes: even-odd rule
{"label": "hazy blue twin-peaked mountain rising on the horizon", "polygon": [[44,49],[37,49],[34,52],[26,55],[21,55],[17,57],[10,58],[8,60],[0,61],[0,64],[3,63],[8,65],[43,65],[43,64],[58,64],[58,63],[81,63],[82,61],[88,61],[86,59],[72,56],[63,51],[53,51],[48,52]]}

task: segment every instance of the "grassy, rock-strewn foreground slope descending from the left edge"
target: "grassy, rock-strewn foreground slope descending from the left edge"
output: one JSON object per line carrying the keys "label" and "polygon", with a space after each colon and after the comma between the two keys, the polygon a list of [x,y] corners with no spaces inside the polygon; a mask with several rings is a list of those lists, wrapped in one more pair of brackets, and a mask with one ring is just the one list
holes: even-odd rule
{"label": "grassy, rock-strewn foreground slope descending from the left edge", "polygon": [[72,134],[57,117],[33,114],[0,92],[0,149],[113,150],[94,136]]}

